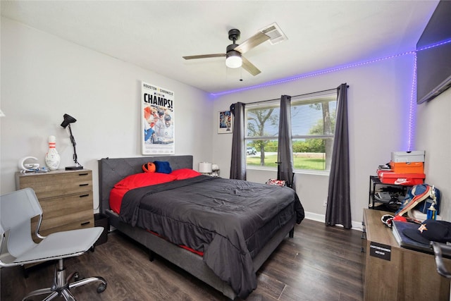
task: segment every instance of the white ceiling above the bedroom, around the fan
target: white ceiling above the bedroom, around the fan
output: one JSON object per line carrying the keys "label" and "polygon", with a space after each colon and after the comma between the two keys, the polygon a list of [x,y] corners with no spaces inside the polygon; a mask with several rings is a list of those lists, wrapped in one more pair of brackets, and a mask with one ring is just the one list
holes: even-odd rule
{"label": "white ceiling above the bedroom, around the fan", "polygon": [[[259,85],[400,54],[438,1],[1,1],[1,15],[206,92]],[[288,40],[245,57],[261,73],[226,68],[228,30],[245,41],[271,23]],[[242,79],[242,81],[240,81]],[[142,79],[145,80],[145,79]]]}

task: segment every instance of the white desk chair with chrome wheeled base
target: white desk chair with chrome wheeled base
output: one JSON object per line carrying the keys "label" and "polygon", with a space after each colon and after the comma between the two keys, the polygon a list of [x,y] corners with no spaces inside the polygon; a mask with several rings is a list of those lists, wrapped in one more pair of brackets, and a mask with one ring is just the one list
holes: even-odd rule
{"label": "white desk chair with chrome wheeled base", "polygon": [[[36,235],[42,241],[35,243],[31,236],[31,219],[39,216]],[[66,278],[66,269],[63,259],[79,256],[89,250],[100,237],[102,227],[85,228],[72,231],[51,233],[47,237],[39,235],[39,226],[42,221],[42,209],[32,188],[25,188],[0,197],[0,268],[19,266],[37,262],[47,262],[58,259],[55,268],[54,283],[50,288],[35,290],[25,297],[23,301],[34,295],[49,294],[44,300],[52,300],[63,296],[64,299],[75,301],[70,288],[85,285],[94,281],[100,282],[97,293],[106,289],[106,281],[102,277],[84,278],[69,283],[77,273],[74,272]]]}

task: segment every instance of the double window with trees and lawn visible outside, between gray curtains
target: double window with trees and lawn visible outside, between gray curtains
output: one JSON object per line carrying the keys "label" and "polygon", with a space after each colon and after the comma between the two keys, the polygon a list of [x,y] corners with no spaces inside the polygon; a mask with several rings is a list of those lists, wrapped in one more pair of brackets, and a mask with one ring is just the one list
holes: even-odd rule
{"label": "double window with trees and lawn visible outside, between gray curtains", "polygon": [[[246,105],[246,165],[277,168],[280,100]],[[335,91],[291,99],[292,148],[295,171],[329,171],[337,96]]]}

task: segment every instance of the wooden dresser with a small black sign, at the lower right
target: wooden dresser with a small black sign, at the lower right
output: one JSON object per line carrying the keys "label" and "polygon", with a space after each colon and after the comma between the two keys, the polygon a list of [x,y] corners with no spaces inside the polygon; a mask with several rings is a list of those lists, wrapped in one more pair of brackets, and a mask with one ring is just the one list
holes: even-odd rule
{"label": "wooden dresser with a small black sign, at the lower right", "polygon": [[[364,300],[449,301],[450,280],[437,273],[433,254],[400,247],[384,214],[390,212],[364,209]],[[449,270],[451,259],[445,265]]]}

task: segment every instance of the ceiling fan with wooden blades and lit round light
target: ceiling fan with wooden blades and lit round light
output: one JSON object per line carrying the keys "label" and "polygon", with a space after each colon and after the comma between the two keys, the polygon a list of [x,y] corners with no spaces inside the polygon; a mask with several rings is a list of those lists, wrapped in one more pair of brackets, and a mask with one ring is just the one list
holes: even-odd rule
{"label": "ceiling fan with wooden blades and lit round light", "polygon": [[[226,66],[228,66],[228,68],[242,67],[247,72],[255,76],[261,73],[261,71],[251,62],[247,61],[247,59],[244,56],[242,56],[242,54],[245,54],[250,49],[259,46],[259,44],[267,41],[268,39],[273,39],[273,37],[275,37],[275,35],[273,35],[273,32],[276,32],[277,37],[280,37],[280,35],[283,35],[283,33],[281,33],[281,31],[279,30],[280,29],[277,27],[276,23],[274,23],[273,25],[269,25],[268,27],[265,27],[263,30],[260,30],[252,37],[249,37],[249,39],[245,40],[245,42],[242,42],[241,44],[236,44],[237,39],[240,39],[241,32],[240,30],[232,29],[228,31],[228,39],[230,39],[230,41],[232,41],[233,44],[228,45],[225,54],[202,54],[199,56],[183,56],[183,59],[185,60],[207,59],[226,56]],[[283,36],[285,37],[285,35]]]}

